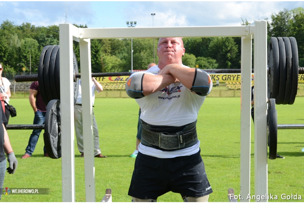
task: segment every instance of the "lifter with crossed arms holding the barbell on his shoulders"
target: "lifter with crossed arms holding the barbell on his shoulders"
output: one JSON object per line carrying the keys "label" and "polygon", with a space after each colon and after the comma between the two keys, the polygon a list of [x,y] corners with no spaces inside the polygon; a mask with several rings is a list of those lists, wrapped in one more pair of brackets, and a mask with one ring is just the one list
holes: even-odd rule
{"label": "lifter with crossed arms holding the barbell on his shoulders", "polygon": [[133,73],[126,83],[126,93],[141,108],[143,126],[128,192],[133,202],[155,202],[169,191],[185,202],[208,201],[212,193],[196,133],[212,80],[205,71],[184,66],[184,54],[180,37],[161,38],[157,66]]}

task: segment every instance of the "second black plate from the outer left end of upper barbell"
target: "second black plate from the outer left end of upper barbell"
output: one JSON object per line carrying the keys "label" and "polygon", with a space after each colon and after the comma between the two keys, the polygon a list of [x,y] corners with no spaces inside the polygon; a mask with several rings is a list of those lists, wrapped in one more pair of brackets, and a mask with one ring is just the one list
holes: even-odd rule
{"label": "second black plate from the outer left end of upper barbell", "polygon": [[[43,63],[43,81],[44,81],[44,90],[45,90],[45,97],[47,101],[43,101],[45,105],[52,100],[51,89],[50,89],[50,79],[49,79],[49,66],[50,66],[50,58],[53,52],[53,49],[56,45],[52,45],[47,49],[47,53],[44,57]],[[46,103],[47,102],[47,103]]]}

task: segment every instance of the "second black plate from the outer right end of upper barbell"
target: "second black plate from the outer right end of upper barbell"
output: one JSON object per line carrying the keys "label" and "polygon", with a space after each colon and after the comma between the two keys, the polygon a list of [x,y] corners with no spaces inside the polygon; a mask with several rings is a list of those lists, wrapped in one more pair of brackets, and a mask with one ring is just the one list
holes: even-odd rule
{"label": "second black plate from the outer right end of upper barbell", "polygon": [[288,104],[291,95],[291,85],[292,85],[292,51],[291,44],[288,37],[283,37],[285,43],[285,53],[286,53],[286,85],[285,94],[282,104]]}

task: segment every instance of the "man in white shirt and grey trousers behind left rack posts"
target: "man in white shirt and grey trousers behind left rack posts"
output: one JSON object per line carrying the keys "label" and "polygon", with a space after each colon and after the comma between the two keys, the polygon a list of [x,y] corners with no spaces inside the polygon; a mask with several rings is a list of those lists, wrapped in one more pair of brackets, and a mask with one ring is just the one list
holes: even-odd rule
{"label": "man in white shirt and grey trousers behind left rack posts", "polygon": [[[95,90],[99,93],[103,91],[102,85],[92,77],[92,81],[90,81],[92,87],[92,105],[94,105],[95,100]],[[94,106],[93,106],[94,107]],[[92,107],[92,108],[93,108]],[[99,148],[99,133],[98,127],[95,119],[94,109],[92,109],[93,113],[93,136],[94,136],[94,156],[99,158],[105,158],[101,154],[101,150]],[[75,126],[75,134],[77,140],[77,147],[79,152],[81,153],[80,157],[84,157],[84,149],[83,149],[83,124],[82,124],[82,95],[81,95],[81,79],[79,80],[78,86],[78,97],[76,100],[76,104],[74,105],[74,126]]]}

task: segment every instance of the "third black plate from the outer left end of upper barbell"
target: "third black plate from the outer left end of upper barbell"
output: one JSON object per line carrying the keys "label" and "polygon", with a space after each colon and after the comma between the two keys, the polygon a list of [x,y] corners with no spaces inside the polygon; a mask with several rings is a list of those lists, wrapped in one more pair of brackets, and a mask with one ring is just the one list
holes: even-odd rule
{"label": "third black plate from the outer left end of upper barbell", "polygon": [[50,58],[50,65],[49,65],[49,82],[50,82],[50,90],[52,94],[52,99],[59,100],[59,96],[57,95],[57,89],[56,89],[56,80],[55,80],[55,60],[57,51],[59,49],[59,45],[55,46],[51,58]]}

